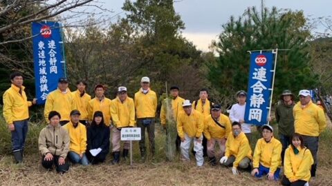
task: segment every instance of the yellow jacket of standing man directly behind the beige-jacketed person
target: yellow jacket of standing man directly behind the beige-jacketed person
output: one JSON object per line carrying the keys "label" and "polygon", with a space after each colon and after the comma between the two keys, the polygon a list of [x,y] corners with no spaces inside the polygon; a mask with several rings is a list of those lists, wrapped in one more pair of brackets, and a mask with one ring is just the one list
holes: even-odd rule
{"label": "yellow jacket of standing man directly behind the beige-jacketed person", "polygon": [[61,90],[57,89],[53,92],[50,92],[48,94],[45,108],[44,108],[44,116],[47,123],[50,123],[48,121],[48,114],[55,110],[60,113],[61,119],[60,121],[69,121],[71,120],[70,114],[73,110],[73,94],[71,93],[71,90],[67,89],[66,93],[62,93]]}

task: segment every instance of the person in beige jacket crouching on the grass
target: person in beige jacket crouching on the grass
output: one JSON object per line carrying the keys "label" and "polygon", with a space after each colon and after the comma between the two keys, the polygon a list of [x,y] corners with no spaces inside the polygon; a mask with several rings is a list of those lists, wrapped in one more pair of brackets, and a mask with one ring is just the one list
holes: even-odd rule
{"label": "person in beige jacket crouching on the grass", "polygon": [[38,146],[42,154],[42,165],[46,169],[52,169],[55,165],[57,172],[64,173],[69,169],[66,156],[69,151],[68,132],[60,125],[60,114],[50,111],[48,114],[48,124],[39,133]]}

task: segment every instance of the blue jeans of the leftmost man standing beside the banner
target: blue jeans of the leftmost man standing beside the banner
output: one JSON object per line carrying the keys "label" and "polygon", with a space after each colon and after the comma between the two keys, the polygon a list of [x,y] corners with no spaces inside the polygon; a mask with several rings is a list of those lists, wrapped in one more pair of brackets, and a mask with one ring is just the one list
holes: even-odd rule
{"label": "blue jeans of the leftmost man standing beside the banner", "polygon": [[26,143],[26,134],[28,133],[28,120],[14,121],[15,130],[12,131],[12,151],[24,149]]}

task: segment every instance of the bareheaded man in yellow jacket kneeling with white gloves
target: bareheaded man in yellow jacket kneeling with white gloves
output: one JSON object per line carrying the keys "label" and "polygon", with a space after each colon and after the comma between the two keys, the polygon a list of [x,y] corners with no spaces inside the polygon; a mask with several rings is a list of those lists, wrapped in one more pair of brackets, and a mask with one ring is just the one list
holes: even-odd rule
{"label": "bareheaded man in yellow jacket kneeling with white gloves", "polygon": [[252,152],[246,134],[241,130],[241,124],[234,121],[232,123],[232,132],[228,134],[226,141],[225,156],[220,159],[220,163],[226,167],[232,166],[232,173],[239,174],[237,167],[248,169],[252,159]]}

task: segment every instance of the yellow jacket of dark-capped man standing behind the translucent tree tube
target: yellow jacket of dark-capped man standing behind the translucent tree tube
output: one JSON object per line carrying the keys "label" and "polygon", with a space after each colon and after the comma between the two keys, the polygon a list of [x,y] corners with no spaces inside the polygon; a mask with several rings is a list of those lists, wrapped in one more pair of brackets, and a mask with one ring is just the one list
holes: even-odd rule
{"label": "yellow jacket of dark-capped man standing behind the translucent tree tube", "polygon": [[[161,125],[166,125],[167,121],[167,107],[166,107],[166,101],[167,99],[164,100],[163,105],[161,105],[161,110],[160,110],[160,123]],[[185,99],[181,98],[180,96],[177,96],[176,99],[172,99],[172,110],[173,110],[173,115],[172,118],[174,118],[174,121],[178,119],[178,116],[181,112],[183,112],[183,101]]]}

